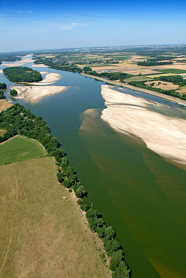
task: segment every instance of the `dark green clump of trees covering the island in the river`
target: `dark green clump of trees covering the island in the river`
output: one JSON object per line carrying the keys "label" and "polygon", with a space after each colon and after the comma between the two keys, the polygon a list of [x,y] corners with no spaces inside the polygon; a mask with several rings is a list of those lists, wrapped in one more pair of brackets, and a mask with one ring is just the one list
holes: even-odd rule
{"label": "dark green clump of trees covering the island in the river", "polygon": [[9,67],[2,71],[11,82],[38,82],[43,80],[39,71],[28,67]]}

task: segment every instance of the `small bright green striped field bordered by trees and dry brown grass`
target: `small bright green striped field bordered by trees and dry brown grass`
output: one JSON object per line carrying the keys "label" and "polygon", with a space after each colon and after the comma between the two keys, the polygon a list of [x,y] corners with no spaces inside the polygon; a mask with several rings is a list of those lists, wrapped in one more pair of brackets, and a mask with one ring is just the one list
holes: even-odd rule
{"label": "small bright green striped field bordered by trees and dry brown grass", "polygon": [[43,146],[36,140],[14,136],[0,144],[0,165],[46,156]]}

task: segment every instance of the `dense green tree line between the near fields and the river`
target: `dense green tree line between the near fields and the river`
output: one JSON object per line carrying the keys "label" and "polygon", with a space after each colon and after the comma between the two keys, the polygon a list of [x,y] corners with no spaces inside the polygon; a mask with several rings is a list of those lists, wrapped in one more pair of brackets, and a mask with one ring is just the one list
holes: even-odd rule
{"label": "dense green tree line between the near fields and the river", "polygon": [[[84,197],[84,186],[78,181],[73,167],[68,164],[65,151],[60,148],[57,137],[52,137],[50,127],[42,117],[36,117],[31,114],[29,109],[26,110],[23,105],[15,103],[0,113],[0,128],[6,129],[4,135],[0,136],[0,142],[6,141],[17,134],[38,140],[45,147],[48,155],[55,157],[58,166],[57,179],[61,185],[70,188],[69,191],[73,189],[78,198]],[[131,271],[125,263],[121,245],[114,239],[114,229],[105,224],[98,210],[89,208],[82,199],[78,199],[77,204],[80,205],[82,210],[86,211],[90,229],[96,232],[104,243],[105,251],[110,257],[112,277],[129,278]]]}

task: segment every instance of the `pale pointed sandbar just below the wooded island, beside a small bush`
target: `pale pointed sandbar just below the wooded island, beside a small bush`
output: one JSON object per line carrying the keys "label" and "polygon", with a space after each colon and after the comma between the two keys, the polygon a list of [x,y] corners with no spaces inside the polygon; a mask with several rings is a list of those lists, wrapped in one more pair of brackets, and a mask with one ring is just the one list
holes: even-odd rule
{"label": "pale pointed sandbar just below the wooded island, beside a small bush", "polygon": [[36,102],[44,96],[58,94],[66,90],[68,86],[12,86],[10,89],[15,89],[18,96],[15,99],[26,99],[31,102]]}

